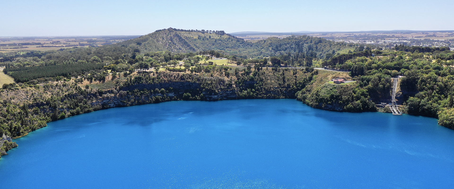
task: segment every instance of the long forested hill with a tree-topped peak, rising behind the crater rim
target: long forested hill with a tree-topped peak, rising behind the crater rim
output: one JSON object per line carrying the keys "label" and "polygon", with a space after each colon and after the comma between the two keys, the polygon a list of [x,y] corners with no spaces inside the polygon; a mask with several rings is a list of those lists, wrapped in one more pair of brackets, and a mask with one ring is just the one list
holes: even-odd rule
{"label": "long forested hill with a tree-topped peak, rising behind the crater rim", "polygon": [[[324,58],[326,54],[351,48],[351,45],[336,43],[306,35],[285,39],[268,38],[258,42],[247,42],[224,31],[161,29],[151,34],[130,39],[114,46],[139,49],[140,52],[171,51],[188,53],[204,50],[222,50],[239,57],[268,57],[284,53],[304,53]],[[106,47],[109,48],[109,47]]]}

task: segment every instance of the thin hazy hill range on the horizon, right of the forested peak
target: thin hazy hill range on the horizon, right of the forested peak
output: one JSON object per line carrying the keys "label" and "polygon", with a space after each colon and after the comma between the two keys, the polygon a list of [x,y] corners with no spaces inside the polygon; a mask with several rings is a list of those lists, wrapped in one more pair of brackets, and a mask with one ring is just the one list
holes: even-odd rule
{"label": "thin hazy hill range on the horizon, right of the forested peak", "polygon": [[383,34],[395,34],[395,33],[417,33],[417,32],[454,32],[454,30],[427,30],[427,31],[416,31],[416,30],[373,30],[373,31],[299,31],[299,32],[233,32],[230,33],[233,36],[244,37],[251,35],[304,35],[304,34],[333,34],[333,33],[383,33]]}

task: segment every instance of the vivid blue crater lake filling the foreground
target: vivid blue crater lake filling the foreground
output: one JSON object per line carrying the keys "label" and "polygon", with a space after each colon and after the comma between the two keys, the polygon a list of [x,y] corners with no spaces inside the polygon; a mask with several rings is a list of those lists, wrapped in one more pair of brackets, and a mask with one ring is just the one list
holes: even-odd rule
{"label": "vivid blue crater lake filling the foreground", "polygon": [[15,141],[0,160],[7,189],[454,187],[454,131],[436,119],[292,99],[112,108]]}

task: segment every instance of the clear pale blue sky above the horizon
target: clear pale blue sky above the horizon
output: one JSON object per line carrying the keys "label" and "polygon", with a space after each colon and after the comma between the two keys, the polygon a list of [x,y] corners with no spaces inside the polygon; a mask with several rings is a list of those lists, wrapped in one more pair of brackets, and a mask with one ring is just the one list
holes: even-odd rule
{"label": "clear pale blue sky above the horizon", "polygon": [[454,30],[454,0],[1,0],[0,36]]}

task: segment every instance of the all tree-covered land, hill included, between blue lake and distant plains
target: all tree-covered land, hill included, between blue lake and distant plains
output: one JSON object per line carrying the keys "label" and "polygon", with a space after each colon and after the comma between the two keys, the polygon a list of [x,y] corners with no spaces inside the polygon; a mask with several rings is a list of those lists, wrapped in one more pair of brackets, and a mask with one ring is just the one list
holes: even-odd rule
{"label": "all tree-covered land, hill included, between blue lake and distant plains", "polygon": [[[454,128],[454,60],[444,47],[382,49],[309,36],[250,43],[223,31],[163,29],[99,48],[0,56],[16,81],[1,86],[0,136],[99,109],[174,100],[295,98],[331,111],[389,111],[376,105],[390,99],[397,76],[402,111]],[[350,72],[314,69],[323,66]],[[354,82],[329,83],[334,78]]]}

